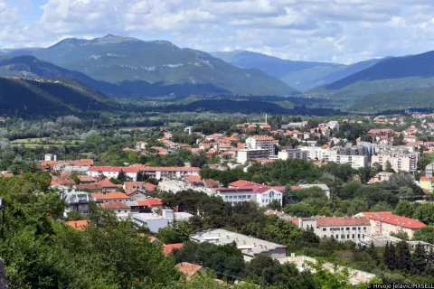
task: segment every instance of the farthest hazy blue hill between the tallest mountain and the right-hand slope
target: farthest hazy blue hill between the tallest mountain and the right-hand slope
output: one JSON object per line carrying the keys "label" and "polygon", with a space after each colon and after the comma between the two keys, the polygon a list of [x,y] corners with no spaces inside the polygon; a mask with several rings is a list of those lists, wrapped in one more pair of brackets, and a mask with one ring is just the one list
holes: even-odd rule
{"label": "farthest hazy blue hill between the tallest mountain and the right-hand slope", "polygon": [[375,59],[344,65],[315,61],[287,61],[251,51],[212,52],[211,54],[240,68],[263,70],[300,91],[344,79],[381,61]]}

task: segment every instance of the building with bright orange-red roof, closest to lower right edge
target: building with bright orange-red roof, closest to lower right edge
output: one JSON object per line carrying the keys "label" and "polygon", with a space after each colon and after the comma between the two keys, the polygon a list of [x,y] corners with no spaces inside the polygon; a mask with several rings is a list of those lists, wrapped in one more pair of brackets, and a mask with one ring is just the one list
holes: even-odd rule
{"label": "building with bright orange-red roof, closest to lower right edge", "polygon": [[407,233],[409,238],[413,238],[415,231],[427,226],[418,219],[393,215],[392,211],[366,211],[356,216],[370,220],[373,235],[391,236],[391,233]]}

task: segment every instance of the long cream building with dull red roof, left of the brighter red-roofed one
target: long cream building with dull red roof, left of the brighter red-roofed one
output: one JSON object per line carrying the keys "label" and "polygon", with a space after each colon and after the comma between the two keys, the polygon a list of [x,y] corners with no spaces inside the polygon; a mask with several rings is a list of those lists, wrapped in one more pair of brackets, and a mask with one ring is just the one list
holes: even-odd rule
{"label": "long cream building with dull red roof, left of the brighter red-roofed one", "polygon": [[363,217],[313,217],[285,218],[298,228],[313,228],[319,238],[335,238],[337,241],[359,243],[371,234],[371,223]]}

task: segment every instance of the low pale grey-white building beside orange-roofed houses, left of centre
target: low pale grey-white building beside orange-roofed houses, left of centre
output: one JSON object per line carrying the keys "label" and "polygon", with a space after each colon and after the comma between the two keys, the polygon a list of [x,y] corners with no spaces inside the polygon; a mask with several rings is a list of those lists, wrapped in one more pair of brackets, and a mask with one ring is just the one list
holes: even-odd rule
{"label": "low pale grey-white building beside orange-roofed houses, left of centre", "polygon": [[162,214],[156,213],[139,213],[132,215],[132,219],[138,225],[146,226],[153,233],[157,233],[160,228],[169,226],[171,222],[176,220],[188,220],[193,215],[185,212],[174,212],[174,210],[162,210]]}

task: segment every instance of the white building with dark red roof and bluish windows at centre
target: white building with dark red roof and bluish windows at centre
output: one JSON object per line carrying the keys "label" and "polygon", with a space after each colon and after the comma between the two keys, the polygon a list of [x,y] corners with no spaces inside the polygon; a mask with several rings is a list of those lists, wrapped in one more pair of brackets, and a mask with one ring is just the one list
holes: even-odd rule
{"label": "white building with dark red roof and bluish windows at centre", "polygon": [[267,206],[273,200],[278,200],[282,204],[282,192],[263,185],[246,186],[238,188],[213,188],[215,195],[224,201],[235,205],[243,201],[256,201],[260,207]]}

